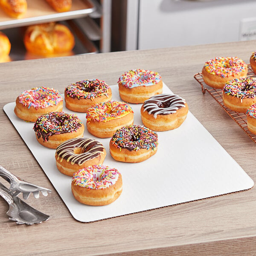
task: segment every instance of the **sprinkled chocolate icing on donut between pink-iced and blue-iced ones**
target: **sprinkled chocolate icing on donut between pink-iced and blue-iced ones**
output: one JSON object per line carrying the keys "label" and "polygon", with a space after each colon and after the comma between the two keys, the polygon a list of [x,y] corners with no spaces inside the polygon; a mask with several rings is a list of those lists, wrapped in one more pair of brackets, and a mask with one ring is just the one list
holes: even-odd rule
{"label": "sprinkled chocolate icing on donut between pink-iced and blue-iced ones", "polygon": [[67,97],[78,99],[91,99],[107,96],[110,87],[105,81],[99,79],[82,80],[65,88]]}

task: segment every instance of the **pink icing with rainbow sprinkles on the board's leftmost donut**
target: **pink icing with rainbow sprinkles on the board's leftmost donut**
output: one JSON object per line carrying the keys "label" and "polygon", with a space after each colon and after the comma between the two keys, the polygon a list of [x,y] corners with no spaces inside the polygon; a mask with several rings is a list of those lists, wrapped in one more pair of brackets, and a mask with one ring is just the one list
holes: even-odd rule
{"label": "pink icing with rainbow sprinkles on the board's leftmost donut", "polygon": [[19,96],[20,103],[25,107],[47,108],[63,101],[58,90],[48,87],[35,87],[25,90]]}

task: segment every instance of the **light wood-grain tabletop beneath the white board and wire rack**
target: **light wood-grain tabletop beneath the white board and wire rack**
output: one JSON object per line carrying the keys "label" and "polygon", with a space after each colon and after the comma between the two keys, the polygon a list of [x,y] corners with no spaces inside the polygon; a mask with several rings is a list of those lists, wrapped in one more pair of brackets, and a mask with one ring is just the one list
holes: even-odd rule
{"label": "light wood-grain tabletop beneath the white board and wire rack", "polygon": [[[78,55],[0,64],[0,107],[38,85],[64,87],[98,78],[116,84],[127,70],[158,71],[190,111],[256,180],[255,143],[193,78],[215,56],[238,56],[247,63],[255,41],[193,47]],[[36,207],[51,218],[43,224],[16,225],[0,198],[0,255],[255,255],[256,189],[178,204],[92,223],[76,221],[29,149],[0,111],[0,164],[25,180],[52,189]],[[202,155],[202,157],[204,157]],[[217,159],[216,159],[217,161]],[[35,206],[31,198],[29,204]]]}

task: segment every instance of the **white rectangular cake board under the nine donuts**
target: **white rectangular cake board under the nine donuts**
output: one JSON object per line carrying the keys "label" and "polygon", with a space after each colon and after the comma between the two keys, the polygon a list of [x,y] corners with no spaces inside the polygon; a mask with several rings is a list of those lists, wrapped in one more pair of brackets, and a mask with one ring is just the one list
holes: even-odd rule
{"label": "white rectangular cake board under the nine donuts", "polygon": [[[112,100],[121,101],[118,86],[111,86],[111,89]],[[163,93],[172,93],[165,84]],[[140,118],[142,104],[130,105],[134,110],[134,124],[142,125]],[[14,108],[15,102],[11,102],[3,109],[78,221],[97,221],[253,187],[253,180],[191,112],[179,128],[157,132],[159,140],[157,153],[141,163],[122,163],[113,160],[109,153],[110,138],[93,137],[86,129],[85,114],[76,113],[84,123],[84,137],[94,138],[105,146],[107,157],[103,164],[118,169],[123,180],[123,192],[112,204],[99,207],[87,206],[73,197],[72,177],[58,171],[55,164],[55,149],[39,144],[33,131],[34,123],[19,119],[15,116]],[[65,107],[63,111],[75,113]],[[33,180],[28,181],[33,182]]]}

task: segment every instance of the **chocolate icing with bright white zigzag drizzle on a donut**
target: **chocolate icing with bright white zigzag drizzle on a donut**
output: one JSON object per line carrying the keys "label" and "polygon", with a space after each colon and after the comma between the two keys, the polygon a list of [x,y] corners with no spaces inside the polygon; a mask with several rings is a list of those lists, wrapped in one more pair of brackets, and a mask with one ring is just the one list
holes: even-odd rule
{"label": "chocolate icing with bright white zigzag drizzle on a donut", "polygon": [[176,113],[178,109],[185,107],[185,100],[175,94],[157,94],[146,100],[143,104],[144,112],[157,115],[169,115]]}

